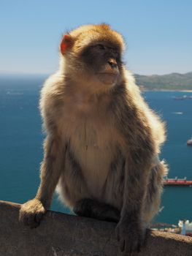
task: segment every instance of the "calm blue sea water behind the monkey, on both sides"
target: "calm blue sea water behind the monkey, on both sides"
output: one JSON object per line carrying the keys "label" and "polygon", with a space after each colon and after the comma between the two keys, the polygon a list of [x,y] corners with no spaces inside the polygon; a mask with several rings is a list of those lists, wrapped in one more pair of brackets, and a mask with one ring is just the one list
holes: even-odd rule
{"label": "calm blue sea water behind the monkey, on both sides", "polygon": [[[23,203],[37,192],[43,140],[38,110],[42,80],[26,78],[0,83],[0,200]],[[172,99],[184,94],[192,95],[148,91],[144,96],[167,124],[161,158],[169,163],[169,176],[187,176],[192,180],[192,147],[186,146],[186,140],[192,136],[192,100]],[[164,189],[161,205],[164,209],[155,219],[157,222],[192,220],[192,187]],[[56,198],[52,209],[68,211]]]}

